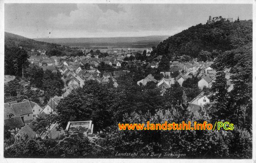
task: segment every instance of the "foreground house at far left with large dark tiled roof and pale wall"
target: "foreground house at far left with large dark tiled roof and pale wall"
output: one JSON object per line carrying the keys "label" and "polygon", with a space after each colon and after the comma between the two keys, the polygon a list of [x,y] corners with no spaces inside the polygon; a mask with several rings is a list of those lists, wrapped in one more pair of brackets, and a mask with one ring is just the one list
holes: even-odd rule
{"label": "foreground house at far left with large dark tiled roof and pale wall", "polygon": [[11,108],[14,116],[20,116],[23,123],[28,124],[33,120],[33,110],[29,101],[11,104]]}

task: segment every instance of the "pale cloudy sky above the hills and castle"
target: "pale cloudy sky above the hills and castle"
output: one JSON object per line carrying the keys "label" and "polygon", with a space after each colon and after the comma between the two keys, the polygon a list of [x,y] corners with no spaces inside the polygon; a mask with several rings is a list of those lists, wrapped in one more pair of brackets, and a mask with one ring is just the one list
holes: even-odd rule
{"label": "pale cloudy sky above the hills and castle", "polygon": [[27,38],[174,35],[211,15],[252,19],[251,4],[5,4],[6,32]]}

